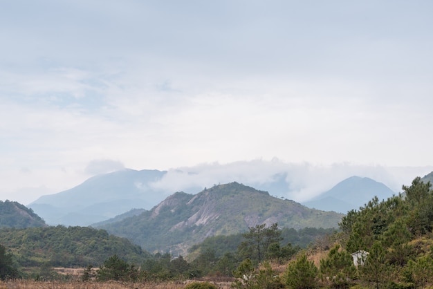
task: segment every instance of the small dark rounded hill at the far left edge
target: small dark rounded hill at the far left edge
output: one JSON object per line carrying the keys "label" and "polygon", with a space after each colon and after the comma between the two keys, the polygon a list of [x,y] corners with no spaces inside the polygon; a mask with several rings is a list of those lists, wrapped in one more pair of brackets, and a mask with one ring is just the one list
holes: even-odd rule
{"label": "small dark rounded hill at the far left edge", "polygon": [[0,201],[0,227],[46,227],[46,223],[32,209],[20,203]]}

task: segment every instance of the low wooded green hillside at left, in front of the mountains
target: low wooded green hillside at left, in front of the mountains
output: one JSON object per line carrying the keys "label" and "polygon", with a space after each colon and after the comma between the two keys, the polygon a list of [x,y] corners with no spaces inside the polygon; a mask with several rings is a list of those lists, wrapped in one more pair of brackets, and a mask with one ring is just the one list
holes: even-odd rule
{"label": "low wooded green hillside at left, in front of the mountains", "polygon": [[90,227],[3,228],[0,244],[10,249],[17,263],[24,267],[101,265],[113,254],[139,264],[149,257],[127,239]]}

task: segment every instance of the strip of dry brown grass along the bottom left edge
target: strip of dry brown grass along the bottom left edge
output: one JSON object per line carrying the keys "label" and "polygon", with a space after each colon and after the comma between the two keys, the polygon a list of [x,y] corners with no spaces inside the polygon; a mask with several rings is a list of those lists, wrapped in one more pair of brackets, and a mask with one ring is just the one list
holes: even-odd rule
{"label": "strip of dry brown grass along the bottom left edge", "polygon": [[[213,283],[213,282],[212,282]],[[217,282],[220,289],[230,288],[230,282]],[[187,282],[166,283],[120,283],[120,282],[81,282],[81,281],[31,281],[8,280],[0,281],[0,289],[181,289]]]}

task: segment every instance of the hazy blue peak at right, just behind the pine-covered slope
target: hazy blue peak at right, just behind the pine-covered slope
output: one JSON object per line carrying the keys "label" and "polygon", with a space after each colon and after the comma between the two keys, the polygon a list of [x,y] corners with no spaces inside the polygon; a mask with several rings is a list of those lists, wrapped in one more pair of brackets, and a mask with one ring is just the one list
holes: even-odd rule
{"label": "hazy blue peak at right, just behind the pine-covered slope", "polygon": [[376,182],[371,178],[351,176],[342,180],[329,191],[302,204],[324,211],[347,213],[351,209],[359,209],[374,196],[377,196],[379,200],[386,200],[393,194],[395,192],[383,183]]}

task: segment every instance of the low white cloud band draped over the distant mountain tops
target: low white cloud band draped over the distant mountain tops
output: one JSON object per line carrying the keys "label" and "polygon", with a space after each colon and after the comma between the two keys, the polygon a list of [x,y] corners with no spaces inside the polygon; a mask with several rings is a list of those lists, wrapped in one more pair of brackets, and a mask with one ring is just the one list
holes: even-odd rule
{"label": "low white cloud band draped over the distant mountain tops", "polygon": [[367,177],[384,183],[394,192],[400,192],[403,184],[409,184],[416,176],[424,176],[433,167],[383,167],[377,165],[356,165],[349,162],[333,165],[314,165],[308,162],[288,163],[282,160],[251,160],[219,164],[218,162],[170,169],[161,180],[151,186],[164,192],[183,190],[195,194],[205,187],[238,182],[257,189],[269,187],[279,176],[285,176],[287,187],[278,192],[285,198],[307,201],[317,194],[331,189],[334,185],[351,176]]}

